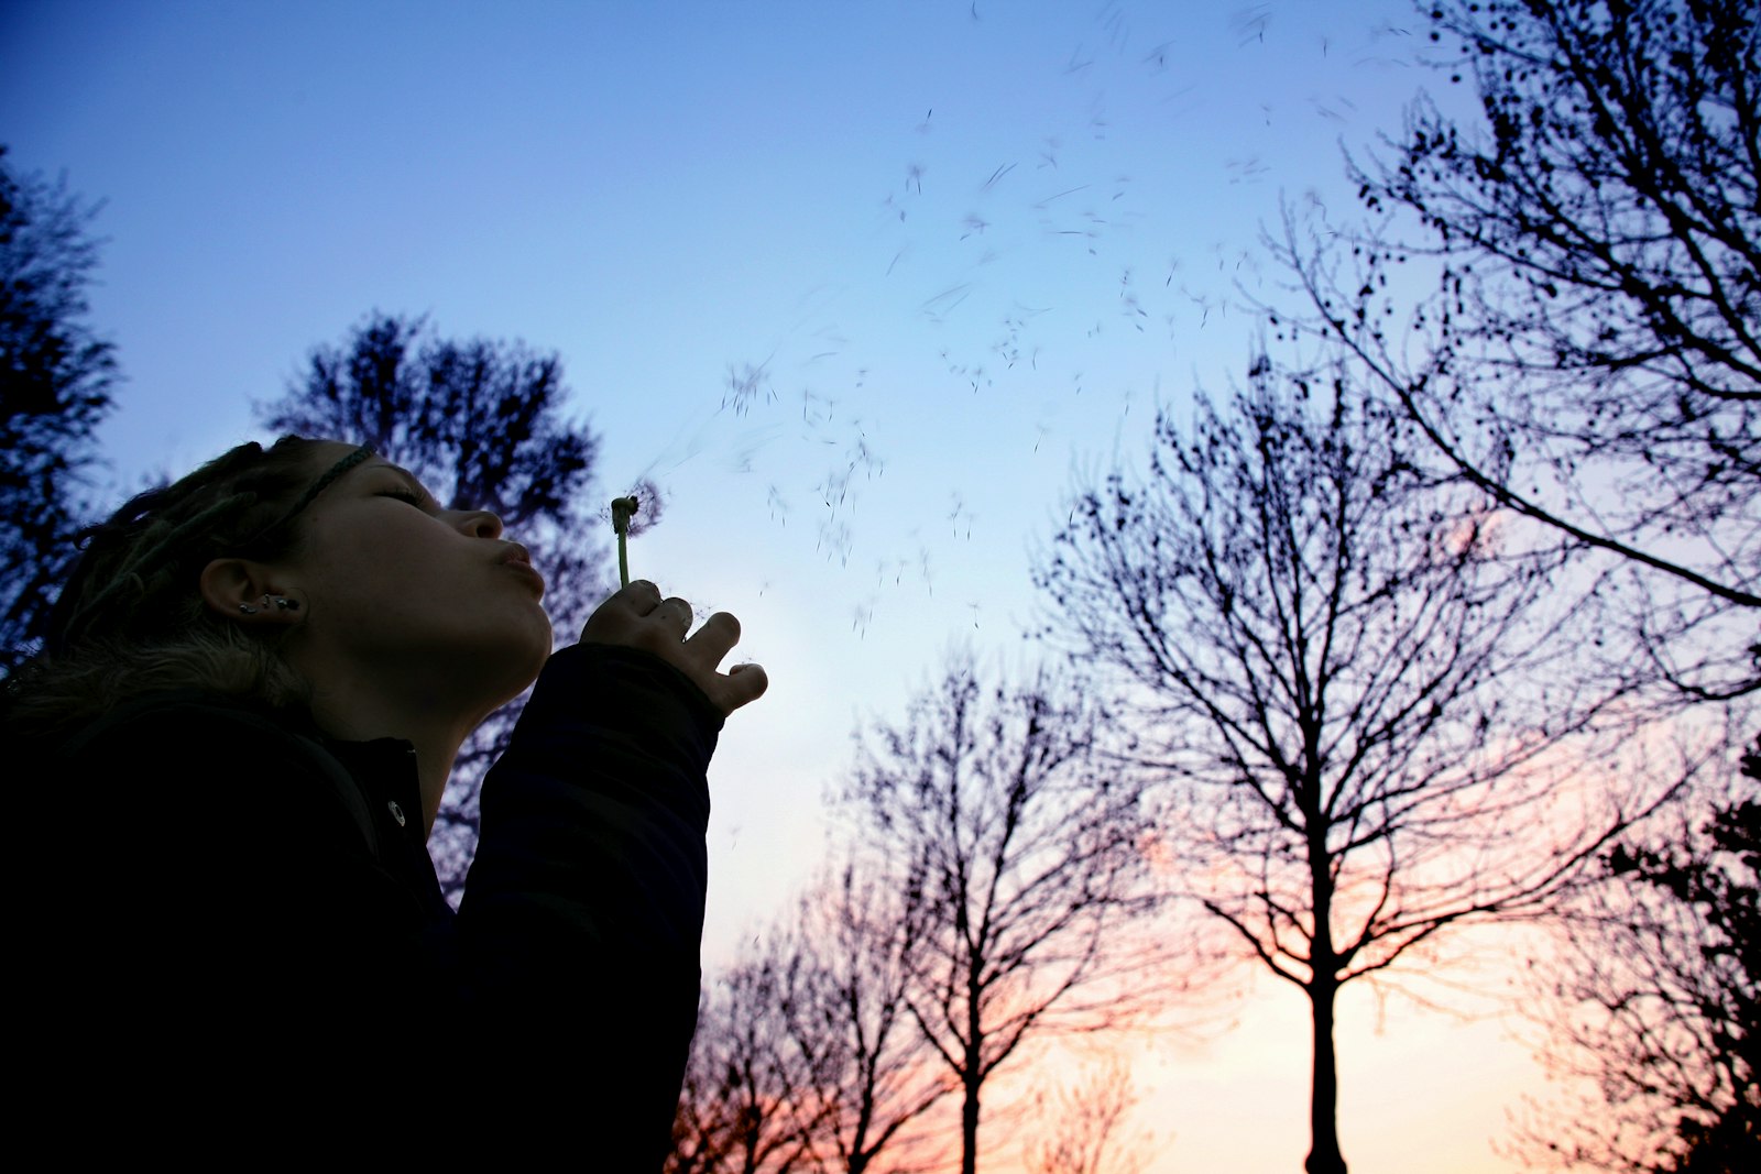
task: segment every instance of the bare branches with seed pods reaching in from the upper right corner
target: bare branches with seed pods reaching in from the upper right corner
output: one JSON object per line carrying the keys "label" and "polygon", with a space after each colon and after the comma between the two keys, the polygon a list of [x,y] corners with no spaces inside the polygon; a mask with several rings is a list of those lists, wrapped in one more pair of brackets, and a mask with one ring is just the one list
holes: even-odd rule
{"label": "bare branches with seed pods reaching in from the upper right corner", "polygon": [[1388,218],[1282,259],[1442,468],[1622,569],[1603,590],[1668,681],[1761,688],[1754,4],[1421,7],[1483,123],[1416,104],[1352,165]]}

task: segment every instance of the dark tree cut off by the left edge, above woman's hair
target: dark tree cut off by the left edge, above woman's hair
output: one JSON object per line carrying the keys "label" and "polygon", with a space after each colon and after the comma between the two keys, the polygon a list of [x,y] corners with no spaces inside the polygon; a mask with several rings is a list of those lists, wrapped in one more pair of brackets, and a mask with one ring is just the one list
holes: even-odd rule
{"label": "dark tree cut off by the left edge, above woman's hair", "polygon": [[0,679],[42,637],[83,525],[114,347],[86,326],[97,206],[0,148]]}

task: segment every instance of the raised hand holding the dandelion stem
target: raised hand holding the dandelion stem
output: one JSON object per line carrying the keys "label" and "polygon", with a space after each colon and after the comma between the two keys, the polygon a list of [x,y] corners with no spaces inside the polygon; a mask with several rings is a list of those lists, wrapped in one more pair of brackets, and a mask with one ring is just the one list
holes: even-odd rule
{"label": "raised hand holding the dandelion stem", "polygon": [[637,579],[599,605],[586,627],[583,644],[622,644],[641,648],[683,672],[722,715],[764,695],[770,678],[754,664],[720,672],[717,665],[740,642],[740,621],[718,611],[690,632],[690,604],[662,598],[660,588]]}

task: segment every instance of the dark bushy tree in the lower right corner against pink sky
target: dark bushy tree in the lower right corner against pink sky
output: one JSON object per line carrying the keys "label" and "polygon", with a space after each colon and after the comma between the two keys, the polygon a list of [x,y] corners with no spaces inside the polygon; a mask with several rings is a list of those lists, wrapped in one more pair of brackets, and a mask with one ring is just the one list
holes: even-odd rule
{"label": "dark bushy tree in the lower right corner against pink sky", "polygon": [[1659,1174],[1761,1162],[1761,739],[1743,774],[1701,827],[1610,852],[1564,922],[1544,1056],[1601,1104],[1546,1107],[1525,1128],[1534,1156]]}

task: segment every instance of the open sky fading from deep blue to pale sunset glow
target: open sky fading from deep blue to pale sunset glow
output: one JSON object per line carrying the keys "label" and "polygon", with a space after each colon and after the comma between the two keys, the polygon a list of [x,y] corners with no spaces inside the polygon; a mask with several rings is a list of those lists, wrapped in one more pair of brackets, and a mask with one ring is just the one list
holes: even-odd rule
{"label": "open sky fading from deep blue to pale sunset glow", "polygon": [[[1404,0],[0,0],[0,143],[102,201],[118,498],[261,438],[373,310],[562,356],[606,498],[666,493],[632,572],[771,679],[711,769],[713,970],[819,861],[856,729],[954,649],[1043,655],[1069,495],[1245,371],[1282,206],[1351,216],[1344,151],[1463,102],[1425,51]],[[1305,1005],[1233,1014],[1139,1049],[1150,1170],[1300,1167]],[[1352,1170],[1513,1169],[1507,1023],[1340,1024]]]}

